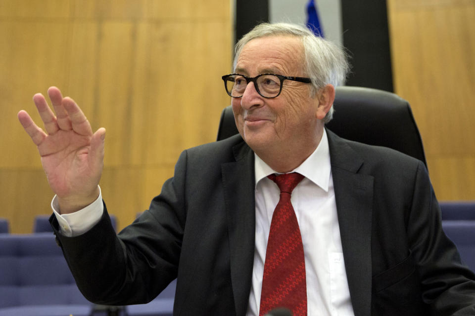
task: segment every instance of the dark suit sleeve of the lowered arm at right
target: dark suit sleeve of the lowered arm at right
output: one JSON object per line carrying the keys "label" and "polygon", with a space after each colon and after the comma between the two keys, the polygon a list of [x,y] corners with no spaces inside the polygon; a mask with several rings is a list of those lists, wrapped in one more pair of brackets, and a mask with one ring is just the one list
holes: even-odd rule
{"label": "dark suit sleeve of the lowered arm at right", "polygon": [[475,276],[445,236],[427,170],[419,163],[408,218],[408,238],[432,315],[475,315]]}

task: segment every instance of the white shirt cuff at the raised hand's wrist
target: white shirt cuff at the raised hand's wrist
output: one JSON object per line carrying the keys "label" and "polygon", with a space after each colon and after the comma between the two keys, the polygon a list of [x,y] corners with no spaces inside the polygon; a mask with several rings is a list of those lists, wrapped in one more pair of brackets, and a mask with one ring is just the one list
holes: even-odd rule
{"label": "white shirt cuff at the raised hand's wrist", "polygon": [[95,224],[97,224],[104,212],[104,204],[102,203],[102,195],[94,202],[83,209],[70,214],[59,214],[59,204],[57,196],[53,197],[51,201],[51,208],[59,223],[59,232],[66,237],[75,237],[89,231]]}

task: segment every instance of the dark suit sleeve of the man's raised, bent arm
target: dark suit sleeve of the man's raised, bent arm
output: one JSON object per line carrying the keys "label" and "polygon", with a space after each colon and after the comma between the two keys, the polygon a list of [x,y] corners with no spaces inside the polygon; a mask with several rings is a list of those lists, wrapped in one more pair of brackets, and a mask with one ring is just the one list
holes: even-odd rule
{"label": "dark suit sleeve of the man's raised, bent arm", "polygon": [[87,233],[65,237],[51,224],[83,295],[97,304],[142,304],[177,276],[186,218],[184,186],[187,153],[175,175],[140,218],[116,235],[104,203],[100,221]]}

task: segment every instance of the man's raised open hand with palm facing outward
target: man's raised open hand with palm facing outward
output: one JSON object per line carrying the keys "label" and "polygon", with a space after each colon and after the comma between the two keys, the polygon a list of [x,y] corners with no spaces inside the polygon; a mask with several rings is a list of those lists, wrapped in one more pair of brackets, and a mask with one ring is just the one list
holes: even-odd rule
{"label": "man's raised open hand with palm facing outward", "polygon": [[98,197],[105,129],[99,128],[93,134],[91,124],[76,102],[63,98],[58,88],[50,87],[48,96],[56,115],[41,93],[33,97],[46,132],[23,110],[18,113],[18,119],[38,147],[49,186],[58,197],[60,212],[71,213]]}

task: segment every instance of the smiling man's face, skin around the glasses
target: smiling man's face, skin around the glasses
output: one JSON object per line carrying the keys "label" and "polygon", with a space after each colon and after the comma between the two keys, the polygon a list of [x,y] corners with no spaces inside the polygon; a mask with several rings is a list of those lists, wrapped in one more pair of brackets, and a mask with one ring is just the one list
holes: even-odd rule
{"label": "smiling man's face, skin around the glasses", "polygon": [[[235,73],[248,77],[266,73],[307,77],[304,64],[301,40],[270,36],[244,45]],[[272,150],[291,154],[298,147],[314,146],[323,123],[316,118],[318,98],[310,96],[310,89],[311,84],[285,80],[281,94],[268,99],[259,95],[250,82],[242,97],[232,98],[236,125],[249,147],[259,155],[260,151]]]}

